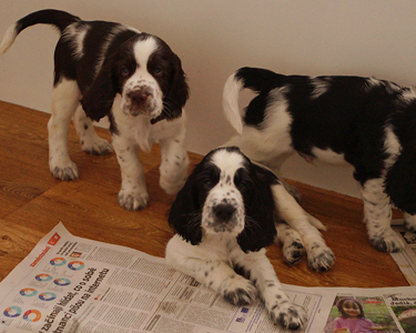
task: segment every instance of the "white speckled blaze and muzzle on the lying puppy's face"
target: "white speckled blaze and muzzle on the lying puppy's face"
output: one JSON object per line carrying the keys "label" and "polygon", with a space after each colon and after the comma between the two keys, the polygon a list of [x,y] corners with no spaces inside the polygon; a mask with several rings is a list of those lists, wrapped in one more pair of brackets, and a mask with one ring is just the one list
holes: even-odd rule
{"label": "white speckled blaze and muzzle on the lying puppy's face", "polygon": [[233,236],[244,229],[244,201],[234,184],[235,173],[245,168],[244,159],[235,152],[217,151],[212,157],[212,164],[220,175],[211,184],[202,210],[202,228],[207,233],[229,232]]}

